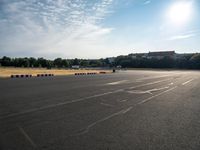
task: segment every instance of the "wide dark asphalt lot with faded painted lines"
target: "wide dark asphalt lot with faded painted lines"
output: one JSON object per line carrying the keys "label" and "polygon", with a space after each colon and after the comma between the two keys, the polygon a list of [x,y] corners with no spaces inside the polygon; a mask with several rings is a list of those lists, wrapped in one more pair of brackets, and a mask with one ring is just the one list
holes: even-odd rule
{"label": "wide dark asphalt lot with faded painted lines", "polygon": [[0,79],[0,150],[159,149],[200,149],[200,72]]}

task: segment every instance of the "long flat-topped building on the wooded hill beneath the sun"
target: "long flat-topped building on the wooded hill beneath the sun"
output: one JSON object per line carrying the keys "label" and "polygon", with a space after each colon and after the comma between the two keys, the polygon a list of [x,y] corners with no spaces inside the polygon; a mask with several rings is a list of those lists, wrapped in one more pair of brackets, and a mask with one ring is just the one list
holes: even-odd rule
{"label": "long flat-topped building on the wooded hill beneath the sun", "polygon": [[175,51],[159,51],[159,52],[149,52],[147,58],[148,59],[163,59],[164,57],[169,57],[172,59],[176,59]]}

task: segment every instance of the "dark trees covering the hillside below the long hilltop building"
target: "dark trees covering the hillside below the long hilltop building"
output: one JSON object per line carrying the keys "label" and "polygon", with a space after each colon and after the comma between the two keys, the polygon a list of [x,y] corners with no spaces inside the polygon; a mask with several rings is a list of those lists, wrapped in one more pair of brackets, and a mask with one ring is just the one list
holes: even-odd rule
{"label": "dark trees covering the hillside below the long hilltop building", "polygon": [[200,53],[180,56],[176,59],[163,57],[162,59],[132,58],[118,56],[115,59],[115,66],[122,68],[179,68],[179,69],[200,69]]}

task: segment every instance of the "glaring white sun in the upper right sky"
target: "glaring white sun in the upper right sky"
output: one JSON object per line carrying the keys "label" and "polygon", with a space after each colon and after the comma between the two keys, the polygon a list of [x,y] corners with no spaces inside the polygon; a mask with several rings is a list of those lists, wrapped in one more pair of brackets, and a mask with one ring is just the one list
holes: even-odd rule
{"label": "glaring white sun in the upper right sky", "polygon": [[179,1],[170,6],[167,17],[173,25],[185,25],[192,18],[193,5],[191,1]]}

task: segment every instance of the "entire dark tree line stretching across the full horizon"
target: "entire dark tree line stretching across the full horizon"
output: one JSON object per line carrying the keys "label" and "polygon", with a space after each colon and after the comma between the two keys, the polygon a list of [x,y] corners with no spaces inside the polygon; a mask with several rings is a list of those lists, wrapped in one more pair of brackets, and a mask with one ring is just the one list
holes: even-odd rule
{"label": "entire dark tree line stretching across the full horizon", "polygon": [[44,58],[0,58],[1,66],[14,67],[46,67],[46,68],[70,68],[73,65],[80,67],[117,67],[122,68],[180,68],[180,69],[200,69],[200,53],[181,56],[177,59],[164,57],[162,59],[133,58],[131,55],[118,56],[112,61],[106,59],[62,59],[47,60]]}

